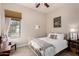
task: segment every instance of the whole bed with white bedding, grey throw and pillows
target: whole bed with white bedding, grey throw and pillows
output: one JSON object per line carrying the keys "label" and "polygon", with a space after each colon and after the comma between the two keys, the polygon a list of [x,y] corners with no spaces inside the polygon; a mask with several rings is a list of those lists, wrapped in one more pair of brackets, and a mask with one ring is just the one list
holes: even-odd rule
{"label": "whole bed with white bedding, grey throw and pillows", "polygon": [[29,46],[41,56],[54,56],[68,47],[63,33],[49,33],[47,37],[35,38]]}

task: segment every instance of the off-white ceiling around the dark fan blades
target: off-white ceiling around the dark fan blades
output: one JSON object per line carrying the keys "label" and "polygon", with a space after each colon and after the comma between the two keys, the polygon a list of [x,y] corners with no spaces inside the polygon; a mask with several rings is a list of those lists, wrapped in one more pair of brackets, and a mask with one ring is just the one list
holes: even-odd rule
{"label": "off-white ceiling around the dark fan blades", "polygon": [[37,11],[42,12],[42,13],[49,13],[52,10],[54,10],[55,8],[58,8],[58,7],[63,5],[61,3],[48,3],[50,7],[46,8],[46,6],[44,6],[44,4],[41,3],[41,5],[38,8],[36,8],[35,3],[19,3],[19,4],[23,5],[25,7],[31,8],[33,10],[37,10]]}

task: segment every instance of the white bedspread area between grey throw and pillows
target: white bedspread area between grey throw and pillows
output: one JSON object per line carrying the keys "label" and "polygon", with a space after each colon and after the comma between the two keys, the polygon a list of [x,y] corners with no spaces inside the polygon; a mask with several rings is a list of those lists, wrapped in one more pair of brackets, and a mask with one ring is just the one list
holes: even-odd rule
{"label": "white bedspread area between grey throw and pillows", "polygon": [[50,43],[54,45],[55,47],[55,53],[60,52],[61,50],[67,48],[67,41],[66,40],[60,40],[60,39],[50,39],[48,37],[39,38],[40,40],[44,40],[47,43]]}

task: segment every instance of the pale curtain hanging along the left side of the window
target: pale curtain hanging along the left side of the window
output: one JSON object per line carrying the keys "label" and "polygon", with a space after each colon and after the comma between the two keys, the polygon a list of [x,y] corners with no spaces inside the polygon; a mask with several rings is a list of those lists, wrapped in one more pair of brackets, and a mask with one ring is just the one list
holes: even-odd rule
{"label": "pale curtain hanging along the left side of the window", "polygon": [[10,27],[10,22],[11,22],[11,18],[6,17],[5,18],[5,24],[4,24],[4,33],[2,34],[2,50],[9,50],[10,46],[9,44],[9,39],[8,39],[8,30]]}

